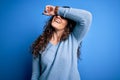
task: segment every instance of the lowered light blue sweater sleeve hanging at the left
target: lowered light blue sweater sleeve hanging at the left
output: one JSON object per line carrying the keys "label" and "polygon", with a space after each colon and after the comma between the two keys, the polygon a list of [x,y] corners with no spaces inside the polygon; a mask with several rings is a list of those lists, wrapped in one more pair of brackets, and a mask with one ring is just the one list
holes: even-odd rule
{"label": "lowered light blue sweater sleeve hanging at the left", "polygon": [[40,68],[40,66],[39,66],[39,57],[34,57],[33,56],[31,80],[38,80],[39,79],[39,75],[40,75],[39,68]]}

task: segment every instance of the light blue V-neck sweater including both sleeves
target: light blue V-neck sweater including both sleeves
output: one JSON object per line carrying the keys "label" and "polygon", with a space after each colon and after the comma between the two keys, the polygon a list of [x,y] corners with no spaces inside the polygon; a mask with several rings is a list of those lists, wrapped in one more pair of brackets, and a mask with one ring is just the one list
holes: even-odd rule
{"label": "light blue V-neck sweater including both sleeves", "polygon": [[77,67],[77,48],[89,30],[92,15],[90,12],[59,7],[58,15],[77,22],[73,32],[65,41],[56,45],[48,43],[41,55],[42,74],[39,57],[33,58],[31,80],[80,80]]}

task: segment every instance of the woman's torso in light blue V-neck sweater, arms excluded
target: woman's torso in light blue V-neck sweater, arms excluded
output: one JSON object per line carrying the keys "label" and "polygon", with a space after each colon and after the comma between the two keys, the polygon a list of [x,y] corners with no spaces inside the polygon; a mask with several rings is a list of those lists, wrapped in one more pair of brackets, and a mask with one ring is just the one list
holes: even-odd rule
{"label": "woman's torso in light blue V-neck sweater, arms excluded", "polygon": [[54,38],[49,42],[41,56],[43,73],[39,80],[80,80],[76,39],[70,34],[65,41],[57,42]]}

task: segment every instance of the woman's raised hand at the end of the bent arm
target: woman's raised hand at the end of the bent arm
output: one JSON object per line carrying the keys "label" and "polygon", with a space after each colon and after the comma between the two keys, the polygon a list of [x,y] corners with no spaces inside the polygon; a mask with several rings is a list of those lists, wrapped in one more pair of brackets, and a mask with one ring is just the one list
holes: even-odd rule
{"label": "woman's raised hand at the end of the bent arm", "polygon": [[53,15],[55,15],[55,6],[47,5],[45,7],[45,10],[44,10],[43,14],[47,15],[47,16],[53,16]]}

